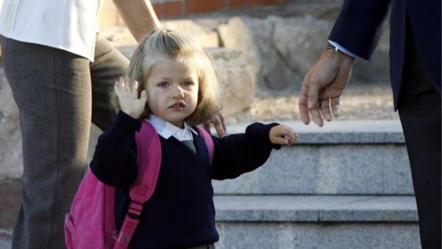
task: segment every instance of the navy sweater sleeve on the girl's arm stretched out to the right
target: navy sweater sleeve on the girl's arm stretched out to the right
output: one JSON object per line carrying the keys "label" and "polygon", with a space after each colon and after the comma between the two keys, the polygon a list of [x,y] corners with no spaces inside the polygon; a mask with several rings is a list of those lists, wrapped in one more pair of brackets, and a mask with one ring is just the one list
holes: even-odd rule
{"label": "navy sweater sleeve on the girl's arm stretched out to the right", "polygon": [[214,154],[211,178],[237,178],[264,164],[273,148],[281,148],[281,145],[272,144],[269,138],[270,129],[276,125],[278,124],[253,123],[247,127],[246,133],[222,138],[212,136]]}

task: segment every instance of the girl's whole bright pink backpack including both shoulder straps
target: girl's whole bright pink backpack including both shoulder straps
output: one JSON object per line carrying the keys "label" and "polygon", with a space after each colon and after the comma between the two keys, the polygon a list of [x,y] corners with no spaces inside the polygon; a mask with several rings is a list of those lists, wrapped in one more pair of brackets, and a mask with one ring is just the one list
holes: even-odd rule
{"label": "girl's whole bright pink backpack including both shoulder straps", "polygon": [[[197,127],[213,158],[213,140],[201,127]],[[120,231],[115,225],[115,188],[98,181],[90,169],[87,171],[65,216],[66,246],[73,248],[127,248],[138,225],[143,204],[155,191],[161,165],[161,143],[155,128],[143,121],[135,135],[137,143],[138,176],[130,188],[132,199]],[[147,153],[142,153],[145,151]]]}

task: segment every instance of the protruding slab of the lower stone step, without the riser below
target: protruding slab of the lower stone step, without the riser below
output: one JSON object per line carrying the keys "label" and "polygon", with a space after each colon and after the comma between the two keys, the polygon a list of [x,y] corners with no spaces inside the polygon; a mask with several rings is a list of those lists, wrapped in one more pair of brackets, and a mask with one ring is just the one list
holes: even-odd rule
{"label": "protruding slab of the lower stone step, without the riser below", "polygon": [[215,196],[216,221],[417,222],[414,196]]}

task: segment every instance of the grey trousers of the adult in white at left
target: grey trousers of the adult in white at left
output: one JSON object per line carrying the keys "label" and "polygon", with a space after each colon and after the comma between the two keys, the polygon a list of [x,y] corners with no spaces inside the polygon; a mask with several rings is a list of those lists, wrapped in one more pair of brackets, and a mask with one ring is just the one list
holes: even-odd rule
{"label": "grey trousers of the adult in white at left", "polygon": [[90,124],[116,113],[109,102],[129,60],[97,35],[95,61],[1,37],[5,73],[20,109],[22,205],[12,248],[65,248],[63,218],[87,167]]}

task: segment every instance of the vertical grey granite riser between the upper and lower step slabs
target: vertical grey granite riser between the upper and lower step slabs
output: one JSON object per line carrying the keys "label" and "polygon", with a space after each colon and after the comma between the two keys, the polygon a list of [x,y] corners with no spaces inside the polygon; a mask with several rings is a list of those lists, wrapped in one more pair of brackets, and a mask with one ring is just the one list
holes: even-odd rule
{"label": "vertical grey granite riser between the upper and lower step slabs", "polygon": [[222,195],[414,194],[404,144],[284,146],[253,172],[212,184]]}

